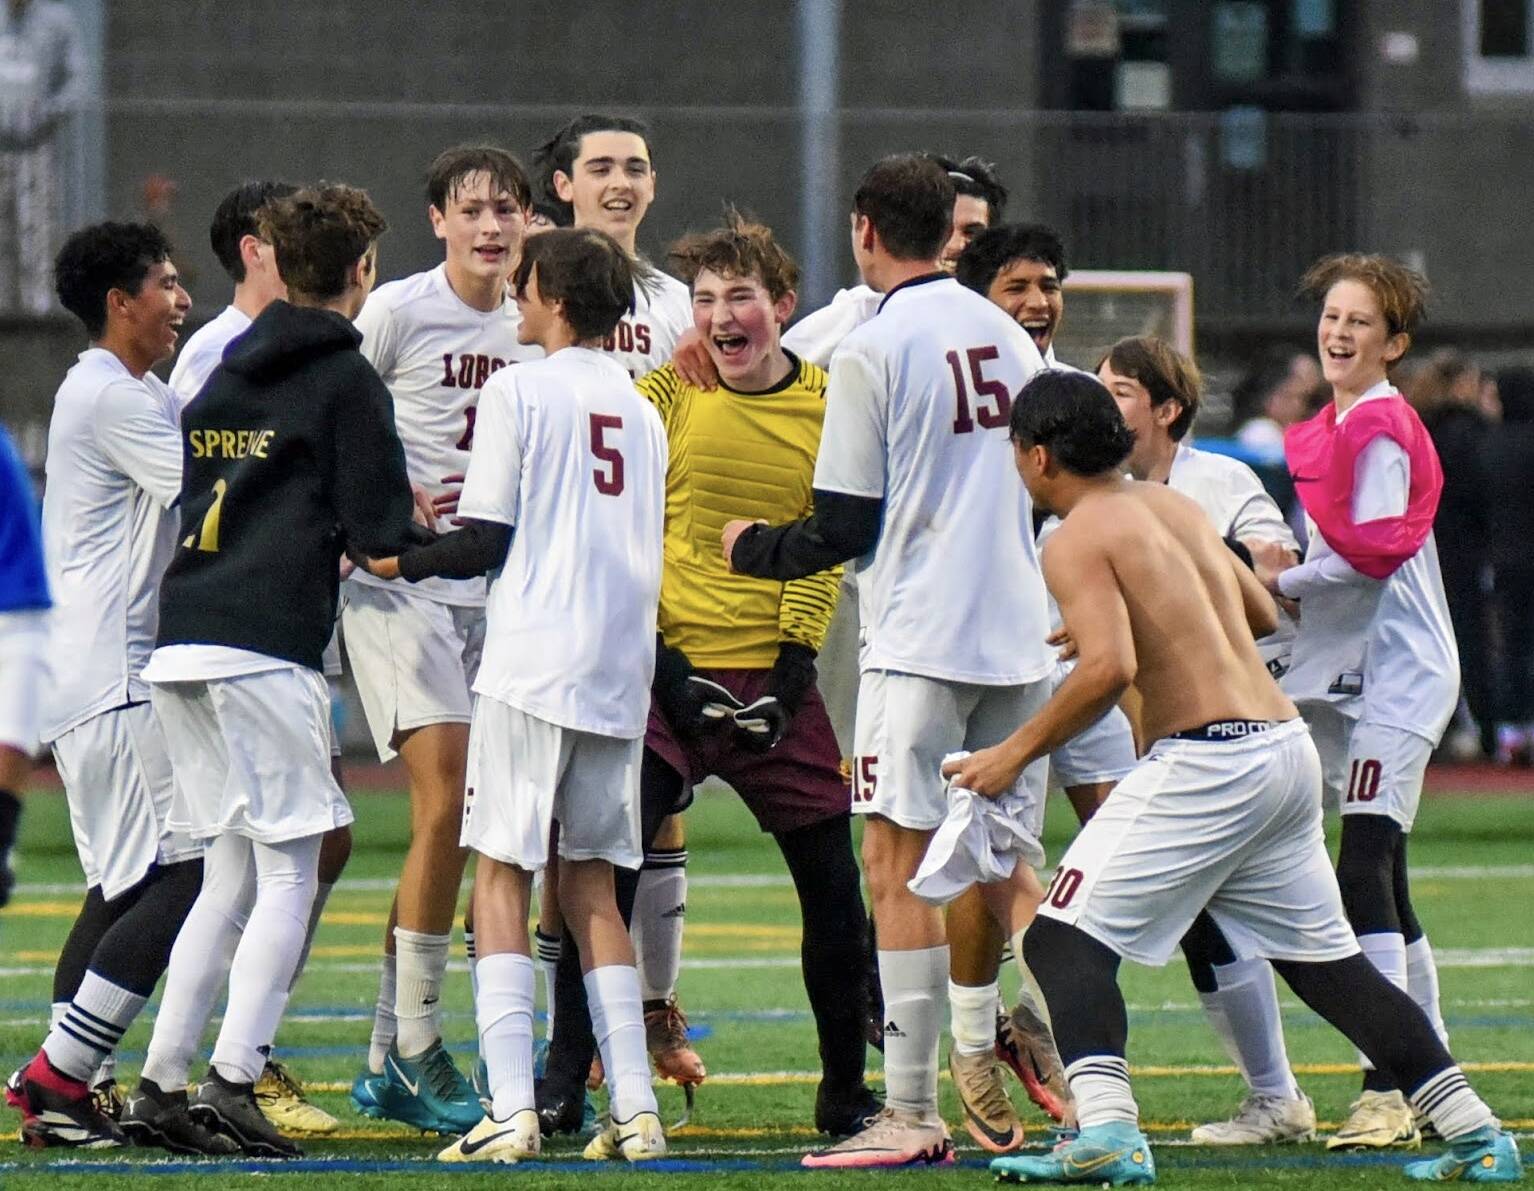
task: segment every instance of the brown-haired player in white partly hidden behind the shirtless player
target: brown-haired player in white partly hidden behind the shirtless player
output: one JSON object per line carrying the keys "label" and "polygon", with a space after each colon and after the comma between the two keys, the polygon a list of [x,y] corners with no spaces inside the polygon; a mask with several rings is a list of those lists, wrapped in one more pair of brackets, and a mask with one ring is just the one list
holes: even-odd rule
{"label": "brown-haired player in white partly hidden behind the shirtless player", "polygon": [[[1258,574],[1298,560],[1299,543],[1252,468],[1187,442],[1201,390],[1193,361],[1163,339],[1137,336],[1114,344],[1097,374],[1135,436],[1124,460],[1131,476],[1192,499],[1238,556],[1258,563]],[[1278,629],[1256,643],[1275,678],[1289,668],[1295,640],[1293,619],[1279,609],[1278,620]],[[1193,1142],[1269,1145],[1315,1139],[1316,1110],[1289,1064],[1272,965],[1266,959],[1239,959],[1207,913],[1183,939],[1183,956],[1204,1013],[1249,1090],[1230,1120],[1200,1125]]]}

